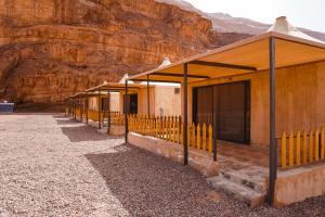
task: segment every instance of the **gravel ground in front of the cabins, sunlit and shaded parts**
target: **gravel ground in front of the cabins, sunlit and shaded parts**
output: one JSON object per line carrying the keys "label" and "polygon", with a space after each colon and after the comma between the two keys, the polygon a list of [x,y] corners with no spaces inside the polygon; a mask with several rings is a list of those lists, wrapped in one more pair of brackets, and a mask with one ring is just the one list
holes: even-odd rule
{"label": "gravel ground in front of the cabins, sunlit and shaded parts", "polygon": [[325,197],[251,209],[197,171],[55,114],[0,115],[2,216],[325,216]]}

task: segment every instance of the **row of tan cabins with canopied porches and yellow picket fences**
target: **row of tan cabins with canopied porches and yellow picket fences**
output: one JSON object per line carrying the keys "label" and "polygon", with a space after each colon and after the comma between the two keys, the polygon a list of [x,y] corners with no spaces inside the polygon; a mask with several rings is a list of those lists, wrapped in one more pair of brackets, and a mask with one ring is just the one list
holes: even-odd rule
{"label": "row of tan cabins with canopied porches and yellow picket fences", "polygon": [[[280,17],[262,35],[125,79],[110,107],[119,102],[128,143],[190,164],[251,206],[283,206],[325,194],[324,87],[324,42]],[[115,122],[109,112],[99,123]]]}

